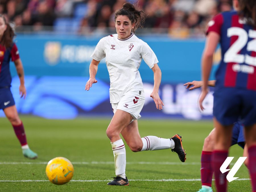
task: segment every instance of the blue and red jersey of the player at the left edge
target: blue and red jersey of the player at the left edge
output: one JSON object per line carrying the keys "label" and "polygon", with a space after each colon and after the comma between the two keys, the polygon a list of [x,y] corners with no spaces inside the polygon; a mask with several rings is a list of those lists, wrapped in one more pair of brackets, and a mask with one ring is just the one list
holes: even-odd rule
{"label": "blue and red jersey of the player at the left edge", "polygon": [[0,45],[0,88],[11,87],[10,59],[15,61],[19,58],[18,48],[15,43],[11,48],[7,49]]}

